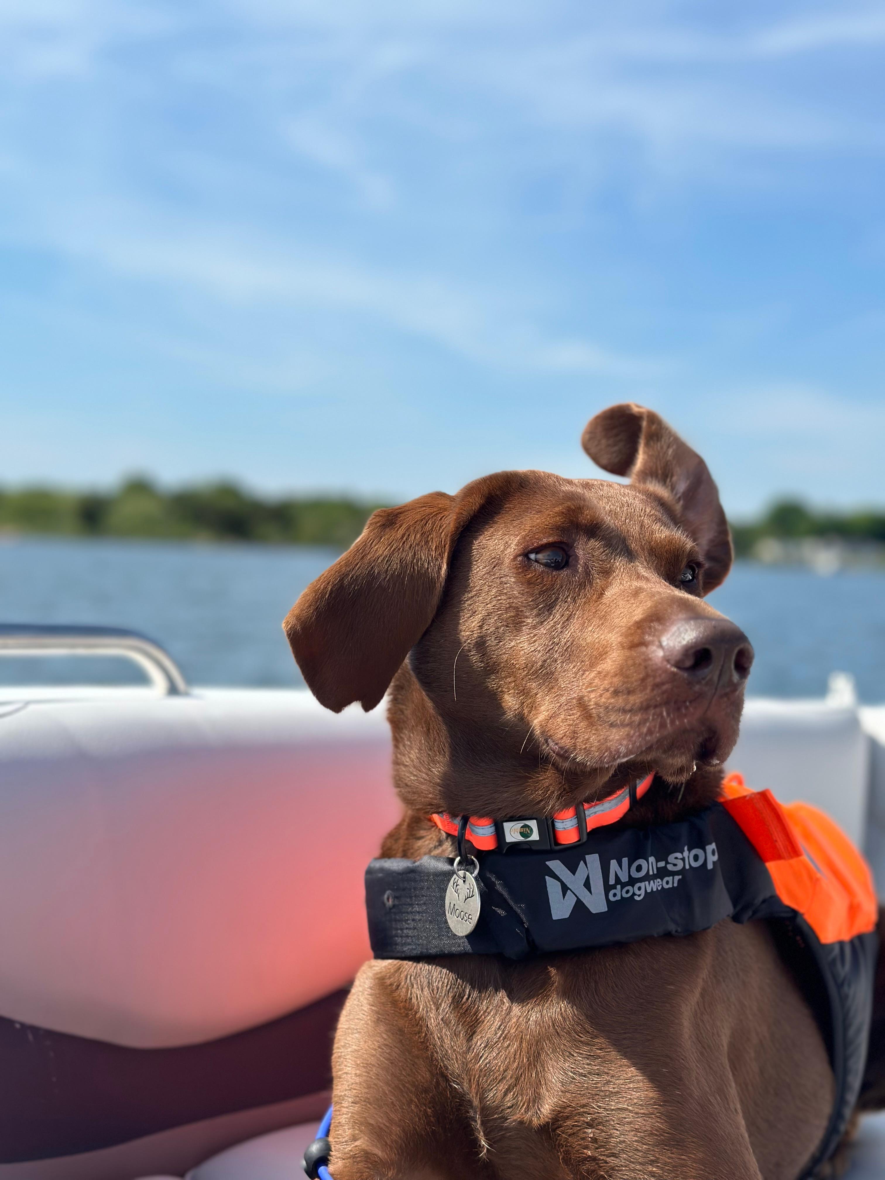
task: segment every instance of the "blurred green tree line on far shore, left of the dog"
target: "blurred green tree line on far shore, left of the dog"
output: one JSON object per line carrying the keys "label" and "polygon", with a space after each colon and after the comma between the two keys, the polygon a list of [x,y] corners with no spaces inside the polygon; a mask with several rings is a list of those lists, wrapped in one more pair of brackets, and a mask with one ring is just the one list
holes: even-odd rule
{"label": "blurred green tree line on far shore, left of the dog", "polygon": [[166,492],[150,479],[137,478],[107,493],[53,487],[0,490],[0,530],[346,549],[380,506],[346,497],[266,499],[228,481]]}

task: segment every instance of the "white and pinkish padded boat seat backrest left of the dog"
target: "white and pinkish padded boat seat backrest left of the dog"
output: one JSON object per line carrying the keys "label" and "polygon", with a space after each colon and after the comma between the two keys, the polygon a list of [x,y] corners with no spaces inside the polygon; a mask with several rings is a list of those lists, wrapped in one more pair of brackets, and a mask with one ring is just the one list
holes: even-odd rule
{"label": "white and pinkish padded boat seat backrest left of the dog", "polygon": [[0,706],[0,1015],[153,1049],[346,985],[389,748],[296,690]]}

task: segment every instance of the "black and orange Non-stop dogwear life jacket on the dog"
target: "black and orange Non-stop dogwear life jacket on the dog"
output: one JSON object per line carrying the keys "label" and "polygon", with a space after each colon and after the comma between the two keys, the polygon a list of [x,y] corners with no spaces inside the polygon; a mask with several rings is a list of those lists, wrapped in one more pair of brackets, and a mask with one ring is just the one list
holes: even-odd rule
{"label": "black and orange Non-stop dogwear life jacket on the dog", "polygon": [[[480,914],[464,937],[446,919],[453,861],[379,859],[366,871],[375,958],[523,959],[769,919],[814,1011],[835,1077],[826,1134],[804,1175],[841,1140],[860,1093],[878,955],[866,861],[824,813],[748,791],[738,775],[701,814],[650,828],[599,828],[579,846],[487,852]],[[510,821],[507,821],[510,822]]]}

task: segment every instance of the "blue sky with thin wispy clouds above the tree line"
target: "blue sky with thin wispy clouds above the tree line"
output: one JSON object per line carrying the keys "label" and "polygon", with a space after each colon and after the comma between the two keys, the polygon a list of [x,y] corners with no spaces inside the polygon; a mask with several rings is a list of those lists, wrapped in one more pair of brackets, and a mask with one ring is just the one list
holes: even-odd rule
{"label": "blue sky with thin wispy clouds above the tree line", "polygon": [[885,5],[0,2],[0,481],[401,499],[663,413],[885,502]]}

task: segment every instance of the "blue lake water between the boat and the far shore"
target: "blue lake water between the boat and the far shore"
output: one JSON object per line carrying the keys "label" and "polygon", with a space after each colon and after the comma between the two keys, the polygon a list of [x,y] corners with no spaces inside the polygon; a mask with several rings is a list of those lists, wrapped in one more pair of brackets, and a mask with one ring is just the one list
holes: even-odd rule
{"label": "blue lake water between the boat and the far shore", "polygon": [[[280,624],[332,550],[142,540],[6,539],[0,622],[144,631],[192,684],[302,683]],[[710,602],[756,649],[750,691],[821,696],[834,669],[885,701],[885,573],[738,565]],[[76,664],[76,670],[74,670]],[[39,670],[38,670],[39,669]],[[84,671],[84,669],[88,669]],[[0,681],[127,682],[123,662],[0,660]]]}

